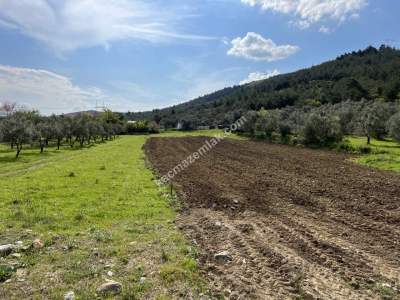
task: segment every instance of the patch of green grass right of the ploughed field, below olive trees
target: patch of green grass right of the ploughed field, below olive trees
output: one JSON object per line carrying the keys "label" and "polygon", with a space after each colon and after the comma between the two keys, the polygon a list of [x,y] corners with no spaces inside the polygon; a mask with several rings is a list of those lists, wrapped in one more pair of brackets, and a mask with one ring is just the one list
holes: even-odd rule
{"label": "patch of green grass right of the ploughed field, below olive trees", "polygon": [[368,146],[366,138],[363,137],[348,137],[347,142],[355,149],[370,148],[370,153],[363,154],[355,159],[355,162],[369,167],[382,170],[390,170],[400,172],[400,144],[392,140],[378,141],[371,140]]}

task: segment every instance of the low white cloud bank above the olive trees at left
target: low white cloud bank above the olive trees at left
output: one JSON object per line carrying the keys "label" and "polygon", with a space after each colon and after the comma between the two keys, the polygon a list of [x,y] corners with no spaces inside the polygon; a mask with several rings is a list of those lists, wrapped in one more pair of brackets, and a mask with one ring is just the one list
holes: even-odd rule
{"label": "low white cloud bank above the olive trees at left", "polygon": [[65,113],[94,109],[105,101],[113,109],[126,109],[128,102],[110,97],[97,87],[82,88],[59,74],[0,65],[0,99],[38,109],[41,113]]}

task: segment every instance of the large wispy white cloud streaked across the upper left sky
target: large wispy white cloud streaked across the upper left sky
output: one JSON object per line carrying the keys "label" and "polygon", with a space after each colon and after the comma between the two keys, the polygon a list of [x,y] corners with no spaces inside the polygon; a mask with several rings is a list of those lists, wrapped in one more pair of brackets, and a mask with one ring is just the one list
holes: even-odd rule
{"label": "large wispy white cloud streaked across the upper left sky", "polygon": [[[0,26],[62,54],[78,48],[140,39],[210,39],[180,33],[176,13],[144,0],[0,0]],[[181,16],[180,19],[182,19]]]}

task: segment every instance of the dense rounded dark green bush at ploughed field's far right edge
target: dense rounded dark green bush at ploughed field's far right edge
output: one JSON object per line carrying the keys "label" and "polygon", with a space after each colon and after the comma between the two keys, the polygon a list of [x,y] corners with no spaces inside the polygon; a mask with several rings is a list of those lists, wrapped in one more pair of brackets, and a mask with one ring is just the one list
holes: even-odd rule
{"label": "dense rounded dark green bush at ploughed field's far right edge", "polygon": [[311,114],[307,118],[302,137],[306,145],[330,146],[341,142],[343,134],[337,118]]}

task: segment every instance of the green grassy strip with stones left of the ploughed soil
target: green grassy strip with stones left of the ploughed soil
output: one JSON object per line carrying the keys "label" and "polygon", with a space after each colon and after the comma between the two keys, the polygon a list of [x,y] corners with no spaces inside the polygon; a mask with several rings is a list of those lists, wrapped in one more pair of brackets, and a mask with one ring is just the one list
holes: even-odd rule
{"label": "green grassy strip with stones left of the ploughed soil", "polygon": [[14,272],[10,283],[0,283],[0,298],[60,299],[73,290],[79,299],[93,299],[106,278],[120,281],[127,299],[202,288],[194,250],[146,168],[145,139],[121,137],[44,155],[26,150],[18,161],[1,146],[0,244],[40,238],[46,246],[0,260],[0,275],[13,263],[27,273]]}

